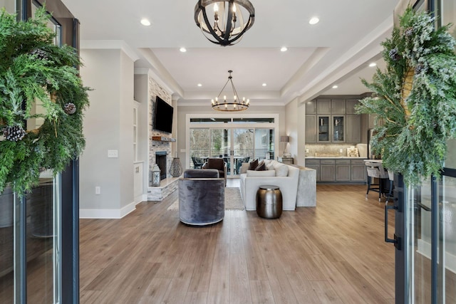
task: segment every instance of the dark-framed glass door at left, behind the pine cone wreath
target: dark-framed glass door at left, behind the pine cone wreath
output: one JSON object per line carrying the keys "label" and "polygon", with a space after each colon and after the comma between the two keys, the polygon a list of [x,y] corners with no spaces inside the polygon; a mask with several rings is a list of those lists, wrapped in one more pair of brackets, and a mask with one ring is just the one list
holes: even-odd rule
{"label": "dark-framed glass door at left, behind the pine cone wreath", "polygon": [[[6,0],[18,20],[33,16],[44,1]],[[46,0],[54,43],[78,48],[78,21],[60,0]],[[41,111],[41,105],[31,109]],[[28,130],[39,119],[27,120]],[[78,160],[53,177],[42,172],[24,197],[6,187],[0,193],[0,303],[79,303]]]}

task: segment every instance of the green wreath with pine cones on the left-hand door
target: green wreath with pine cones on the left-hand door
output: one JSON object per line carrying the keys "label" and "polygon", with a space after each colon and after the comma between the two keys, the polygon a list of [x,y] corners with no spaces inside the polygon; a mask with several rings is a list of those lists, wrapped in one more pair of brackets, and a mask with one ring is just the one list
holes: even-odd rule
{"label": "green wreath with pine cones on the left-hand door", "polygon": [[[23,196],[39,181],[40,172],[63,171],[85,146],[83,110],[88,90],[78,70],[78,53],[55,46],[44,7],[34,19],[16,21],[0,15],[0,193],[7,184]],[[36,103],[43,111],[32,114]],[[27,129],[27,120],[43,124]]]}

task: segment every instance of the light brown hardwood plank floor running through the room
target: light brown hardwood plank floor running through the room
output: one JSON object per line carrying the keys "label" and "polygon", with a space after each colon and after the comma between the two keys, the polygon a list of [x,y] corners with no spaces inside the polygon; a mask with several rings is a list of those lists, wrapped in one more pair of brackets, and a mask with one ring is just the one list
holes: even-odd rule
{"label": "light brown hardwood plank floor running through the room", "polygon": [[123,219],[81,219],[81,303],[394,303],[384,203],[365,194],[318,185],[314,208],[226,211],[205,227],[167,211],[177,192]]}

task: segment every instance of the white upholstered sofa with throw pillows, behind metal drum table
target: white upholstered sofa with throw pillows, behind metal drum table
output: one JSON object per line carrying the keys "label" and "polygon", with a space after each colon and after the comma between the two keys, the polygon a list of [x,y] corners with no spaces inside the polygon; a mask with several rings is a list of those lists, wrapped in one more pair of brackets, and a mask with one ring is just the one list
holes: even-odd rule
{"label": "white upholstered sofa with throw pillows, behind metal drum table", "polygon": [[242,164],[240,188],[245,209],[248,211],[257,209],[257,190],[261,185],[278,186],[282,194],[282,209],[296,209],[299,168],[271,159],[264,159],[264,163],[265,171],[247,170],[249,164]]}

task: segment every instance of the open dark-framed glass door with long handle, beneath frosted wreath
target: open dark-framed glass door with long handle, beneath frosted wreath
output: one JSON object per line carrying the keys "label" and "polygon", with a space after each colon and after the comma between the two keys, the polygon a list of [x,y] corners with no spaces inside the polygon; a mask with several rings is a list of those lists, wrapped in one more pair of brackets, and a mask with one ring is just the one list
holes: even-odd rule
{"label": "open dark-framed glass door with long handle, beneath frosted wreath", "polygon": [[456,140],[440,179],[407,187],[395,175],[395,303],[456,303]]}

